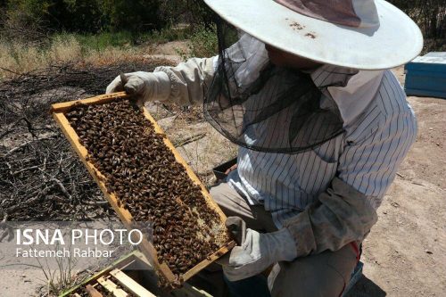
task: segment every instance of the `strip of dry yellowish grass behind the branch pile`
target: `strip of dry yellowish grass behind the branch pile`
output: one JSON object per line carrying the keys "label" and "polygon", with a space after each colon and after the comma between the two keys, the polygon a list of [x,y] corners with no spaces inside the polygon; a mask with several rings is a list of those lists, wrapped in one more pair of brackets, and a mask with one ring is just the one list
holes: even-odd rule
{"label": "strip of dry yellowish grass behind the branch pile", "polygon": [[[37,34],[37,33],[36,33]],[[11,34],[10,34],[11,35]],[[215,35],[215,34],[213,34]],[[158,47],[171,41],[187,41],[186,48],[170,53],[159,53]],[[40,40],[41,39],[41,40]],[[0,80],[12,78],[16,73],[45,69],[54,64],[70,62],[93,65],[107,65],[116,62],[140,60],[143,55],[175,54],[181,52],[190,56],[210,56],[205,50],[215,47],[215,37],[205,29],[191,36],[188,28],[167,28],[134,37],[127,31],[103,32],[95,35],[81,35],[61,32],[36,41],[0,35]],[[208,45],[209,44],[209,45]],[[171,46],[171,45],[170,45]],[[204,46],[204,47],[203,47]],[[200,49],[201,52],[198,52]],[[211,50],[208,50],[208,52]]]}

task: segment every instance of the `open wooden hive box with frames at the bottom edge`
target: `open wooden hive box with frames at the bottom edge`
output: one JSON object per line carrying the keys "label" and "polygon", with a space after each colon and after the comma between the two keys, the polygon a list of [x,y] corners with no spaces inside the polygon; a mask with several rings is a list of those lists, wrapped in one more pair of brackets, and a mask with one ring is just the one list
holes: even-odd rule
{"label": "open wooden hive box with frames at the bottom edge", "polygon": [[191,285],[172,292],[157,287],[153,268],[141,252],[131,252],[115,261],[95,276],[63,292],[59,297],[211,297],[211,294]]}

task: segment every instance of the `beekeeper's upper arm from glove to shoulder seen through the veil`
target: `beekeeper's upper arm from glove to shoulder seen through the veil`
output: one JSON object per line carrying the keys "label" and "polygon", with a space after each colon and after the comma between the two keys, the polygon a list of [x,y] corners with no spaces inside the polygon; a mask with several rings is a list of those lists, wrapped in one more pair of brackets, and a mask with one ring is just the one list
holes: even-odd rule
{"label": "beekeeper's upper arm from glove to shoulder seen through the veil", "polygon": [[[237,84],[250,85],[259,77],[260,70],[268,62],[264,44],[244,34],[234,45],[227,48],[227,62],[235,59]],[[244,61],[244,63],[240,63]],[[125,90],[137,95],[141,103],[161,101],[191,105],[202,103],[206,88],[219,65],[219,56],[192,58],[176,67],[161,66],[153,72],[126,73],[128,82],[122,86],[120,76],[107,87],[106,93]]]}

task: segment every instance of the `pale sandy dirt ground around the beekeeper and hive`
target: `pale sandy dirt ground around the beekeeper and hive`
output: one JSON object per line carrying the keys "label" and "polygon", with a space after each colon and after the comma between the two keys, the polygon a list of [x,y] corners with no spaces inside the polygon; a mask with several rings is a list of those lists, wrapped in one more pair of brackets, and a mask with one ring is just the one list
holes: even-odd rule
{"label": "pale sandy dirt ground around the beekeeper and hive", "polygon": [[[394,72],[403,83],[402,68]],[[417,114],[417,142],[378,210],[379,220],[363,246],[364,276],[349,297],[446,296],[446,100],[408,100]],[[162,126],[169,135],[169,120],[164,121]],[[188,127],[189,132],[207,131],[202,127],[206,125],[195,123]],[[172,133],[175,130],[171,128]],[[184,136],[178,139],[181,137]],[[211,160],[225,161],[195,161],[195,156],[202,155],[197,153],[202,147],[200,142],[214,147],[227,145],[211,132],[199,138],[180,150],[194,169],[202,168],[202,163],[211,168]],[[228,158],[223,153],[219,155]],[[0,295],[32,295],[37,285],[43,284],[41,274],[36,269],[0,269]]]}

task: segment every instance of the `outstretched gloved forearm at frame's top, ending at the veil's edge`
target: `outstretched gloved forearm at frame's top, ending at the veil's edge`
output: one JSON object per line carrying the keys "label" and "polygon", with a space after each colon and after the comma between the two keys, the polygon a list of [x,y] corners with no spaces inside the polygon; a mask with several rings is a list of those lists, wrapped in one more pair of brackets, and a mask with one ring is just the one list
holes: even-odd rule
{"label": "outstretched gloved forearm at frame's top, ending at the veil's edge", "polygon": [[176,67],[161,66],[153,72],[126,73],[128,81],[125,86],[122,86],[118,76],[107,87],[106,93],[125,90],[128,94],[136,95],[142,103],[202,103],[205,86],[210,84],[214,74],[214,59],[217,57],[192,58]]}

